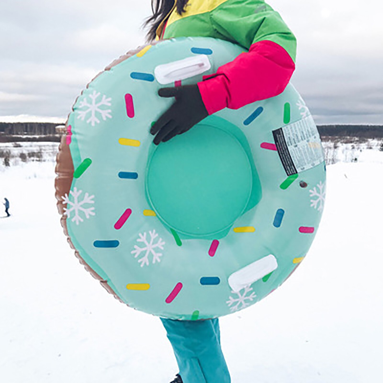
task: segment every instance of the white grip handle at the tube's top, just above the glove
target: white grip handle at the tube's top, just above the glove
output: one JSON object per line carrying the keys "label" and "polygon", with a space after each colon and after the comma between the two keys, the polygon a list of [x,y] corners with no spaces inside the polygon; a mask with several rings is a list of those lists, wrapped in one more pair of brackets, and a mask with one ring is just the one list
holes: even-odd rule
{"label": "white grip handle at the tube's top, just above the glove", "polygon": [[172,61],[168,64],[157,65],[154,69],[155,79],[162,85],[175,81],[189,79],[190,77],[202,74],[211,68],[206,54],[187,57],[179,61]]}

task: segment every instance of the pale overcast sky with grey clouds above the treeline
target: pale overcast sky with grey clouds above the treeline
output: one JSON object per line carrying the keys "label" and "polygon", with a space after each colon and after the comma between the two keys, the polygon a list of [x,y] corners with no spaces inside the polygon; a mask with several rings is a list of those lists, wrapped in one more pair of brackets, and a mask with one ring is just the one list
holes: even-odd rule
{"label": "pale overcast sky with grey clouds above the treeline", "polygon": [[[144,42],[150,3],[0,0],[0,121],[65,121],[85,84]],[[292,82],[316,122],[383,124],[383,1],[268,3],[298,39]]]}

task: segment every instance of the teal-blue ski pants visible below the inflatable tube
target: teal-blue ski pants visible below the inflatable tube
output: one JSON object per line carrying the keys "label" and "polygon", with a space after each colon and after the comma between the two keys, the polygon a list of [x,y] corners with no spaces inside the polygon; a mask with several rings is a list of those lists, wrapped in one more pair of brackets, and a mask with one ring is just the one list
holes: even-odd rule
{"label": "teal-blue ski pants visible below the inflatable tube", "polygon": [[218,319],[173,321],[161,318],[183,383],[230,383],[221,350]]}

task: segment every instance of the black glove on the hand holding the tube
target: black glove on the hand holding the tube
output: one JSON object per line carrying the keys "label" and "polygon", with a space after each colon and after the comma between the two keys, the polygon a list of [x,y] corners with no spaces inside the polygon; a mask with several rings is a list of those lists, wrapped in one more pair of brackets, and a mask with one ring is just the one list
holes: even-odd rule
{"label": "black glove on the hand holding the tube", "polygon": [[154,138],[155,145],[187,132],[208,116],[198,85],[161,88],[158,94],[161,97],[175,97],[175,103],[150,129],[151,134],[157,134]]}

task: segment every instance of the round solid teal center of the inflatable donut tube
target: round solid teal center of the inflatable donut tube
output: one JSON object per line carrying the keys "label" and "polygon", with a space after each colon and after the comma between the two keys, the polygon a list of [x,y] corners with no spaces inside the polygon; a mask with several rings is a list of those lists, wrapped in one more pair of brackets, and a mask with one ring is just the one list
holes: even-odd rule
{"label": "round solid teal center of the inflatable donut tube", "polygon": [[252,196],[250,158],[219,120],[206,119],[149,154],[149,204],[167,228],[187,238],[226,235]]}

